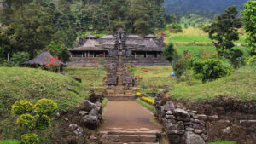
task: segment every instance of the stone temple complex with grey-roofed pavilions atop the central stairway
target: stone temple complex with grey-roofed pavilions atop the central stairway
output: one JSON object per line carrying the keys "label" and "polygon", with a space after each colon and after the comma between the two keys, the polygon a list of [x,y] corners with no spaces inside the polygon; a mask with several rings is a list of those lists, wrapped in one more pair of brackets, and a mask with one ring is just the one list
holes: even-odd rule
{"label": "stone temple complex with grey-roofed pavilions atop the central stairway", "polygon": [[[89,67],[93,66],[92,60],[103,57],[106,62],[118,62],[119,45],[122,45],[122,61],[128,63],[136,61],[137,66],[170,66],[164,59],[162,52],[165,47],[163,38],[152,34],[140,37],[135,34],[125,33],[122,29],[114,34],[100,38],[88,36],[79,38],[79,43],[73,49],[68,49],[71,58],[67,66]],[[102,54],[102,55],[100,55]]]}

